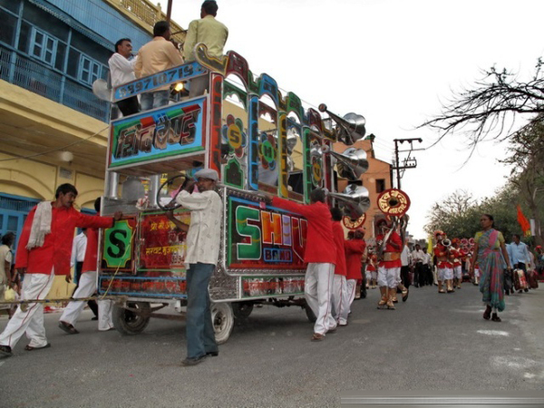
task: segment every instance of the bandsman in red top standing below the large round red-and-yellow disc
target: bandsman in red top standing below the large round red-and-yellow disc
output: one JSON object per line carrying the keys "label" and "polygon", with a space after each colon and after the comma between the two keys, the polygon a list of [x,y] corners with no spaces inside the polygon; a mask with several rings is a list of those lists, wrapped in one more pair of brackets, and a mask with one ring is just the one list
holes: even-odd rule
{"label": "bandsman in red top standing below the large round red-and-yellow disc", "polygon": [[402,266],[403,241],[396,231],[392,231],[387,241],[384,242],[386,231],[390,228],[386,219],[380,219],[376,223],[376,228],[379,231],[376,242],[381,243],[381,247],[384,248],[383,259],[379,259],[378,265],[378,286],[382,294],[378,308],[387,306],[388,309],[394,310],[393,296],[396,294],[397,276],[400,274]]}

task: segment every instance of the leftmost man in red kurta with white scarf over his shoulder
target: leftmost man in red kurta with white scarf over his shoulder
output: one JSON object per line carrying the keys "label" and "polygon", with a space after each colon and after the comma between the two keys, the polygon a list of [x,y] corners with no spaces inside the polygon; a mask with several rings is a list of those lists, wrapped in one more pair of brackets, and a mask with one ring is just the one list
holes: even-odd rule
{"label": "leftmost man in red kurta with white scarf over his shoulder", "polygon": [[[121,212],[115,213],[113,219],[84,215],[73,208],[76,197],[77,189],[72,184],[62,184],[56,190],[53,202],[39,203],[24,221],[15,257],[15,268],[20,275],[25,275],[23,299],[44,299],[55,275],[64,276],[70,282],[70,256],[76,227],[107,228],[121,219]],[[0,335],[0,354],[12,355],[12,347],[25,332],[30,339],[25,350],[49,347],[43,304],[31,303],[17,308]]]}

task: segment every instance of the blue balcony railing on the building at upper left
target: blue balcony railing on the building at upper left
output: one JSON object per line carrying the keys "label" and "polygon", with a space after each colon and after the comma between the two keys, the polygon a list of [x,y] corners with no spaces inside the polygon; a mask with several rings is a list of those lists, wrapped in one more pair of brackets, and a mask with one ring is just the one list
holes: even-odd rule
{"label": "blue balcony railing on the building at upper left", "polygon": [[94,96],[91,87],[3,46],[0,46],[0,79],[100,121],[110,119],[110,103]]}

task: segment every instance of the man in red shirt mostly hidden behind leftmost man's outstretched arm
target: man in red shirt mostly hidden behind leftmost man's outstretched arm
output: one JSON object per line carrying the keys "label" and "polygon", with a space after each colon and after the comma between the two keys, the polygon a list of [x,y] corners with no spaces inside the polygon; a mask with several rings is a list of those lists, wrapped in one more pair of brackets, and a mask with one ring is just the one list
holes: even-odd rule
{"label": "man in red shirt mostly hidden behind leftmost man's outstretched arm", "polygon": [[[100,213],[102,197],[94,201],[96,213]],[[87,229],[87,248],[83,260],[82,275],[79,286],[73,298],[92,296],[96,292],[98,271],[96,270],[98,257],[98,228]],[[59,319],[59,327],[69,335],[77,335],[79,332],[73,326],[83,311],[85,302],[73,300],[66,306],[63,316]],[[112,300],[98,301],[98,330],[105,332],[113,328],[112,323]]]}

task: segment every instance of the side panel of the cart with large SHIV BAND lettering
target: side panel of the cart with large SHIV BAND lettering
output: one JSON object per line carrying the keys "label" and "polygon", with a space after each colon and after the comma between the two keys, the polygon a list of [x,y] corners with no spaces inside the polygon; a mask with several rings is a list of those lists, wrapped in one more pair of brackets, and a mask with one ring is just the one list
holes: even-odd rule
{"label": "side panel of the cart with large SHIV BAND lettering", "polygon": [[228,268],[305,268],[306,219],[229,196],[228,221]]}

